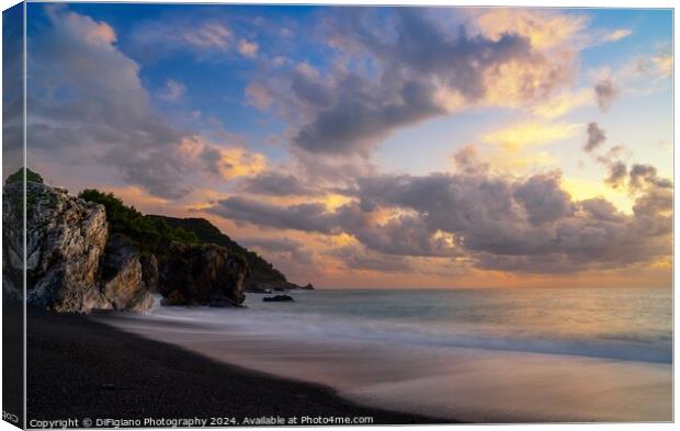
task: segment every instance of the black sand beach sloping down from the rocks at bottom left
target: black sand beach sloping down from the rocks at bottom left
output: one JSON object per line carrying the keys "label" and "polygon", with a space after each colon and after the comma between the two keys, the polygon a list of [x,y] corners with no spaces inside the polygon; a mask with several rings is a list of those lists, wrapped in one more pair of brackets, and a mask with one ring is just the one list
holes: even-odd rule
{"label": "black sand beach sloping down from the rocks at bottom left", "polygon": [[[31,419],[373,417],[443,420],[358,406],[324,386],[219,363],[83,316],[29,310]],[[445,422],[451,422],[450,420]]]}

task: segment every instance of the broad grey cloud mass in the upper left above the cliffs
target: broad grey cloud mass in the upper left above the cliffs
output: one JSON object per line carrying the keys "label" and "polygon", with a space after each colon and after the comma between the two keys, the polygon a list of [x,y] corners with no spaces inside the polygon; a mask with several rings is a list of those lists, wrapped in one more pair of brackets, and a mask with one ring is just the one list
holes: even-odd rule
{"label": "broad grey cloud mass in the upper left above the cliffs", "polygon": [[[49,25],[33,37],[29,55],[27,128],[41,157],[114,167],[128,184],[165,199],[185,195],[205,173],[229,180],[264,168],[261,155],[166,122],[109,24],[64,7],[45,11]],[[173,100],[183,92],[169,80],[160,95]]]}

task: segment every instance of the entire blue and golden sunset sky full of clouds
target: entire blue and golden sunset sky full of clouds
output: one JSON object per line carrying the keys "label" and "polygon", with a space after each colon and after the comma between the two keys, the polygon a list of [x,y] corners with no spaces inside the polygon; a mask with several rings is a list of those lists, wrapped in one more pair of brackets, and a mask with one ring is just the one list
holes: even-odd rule
{"label": "entire blue and golden sunset sky full of clouds", "polygon": [[670,10],[27,13],[52,184],[207,218],[318,287],[671,285]]}

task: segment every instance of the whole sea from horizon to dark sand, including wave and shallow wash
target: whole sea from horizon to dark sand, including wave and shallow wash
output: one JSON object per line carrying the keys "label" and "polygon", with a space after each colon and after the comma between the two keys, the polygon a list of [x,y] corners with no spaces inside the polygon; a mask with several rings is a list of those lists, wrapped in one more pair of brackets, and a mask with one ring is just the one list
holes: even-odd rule
{"label": "whole sea from horizon to dark sand, including wave and shallow wash", "polygon": [[672,420],[670,288],[293,291],[102,315],[379,408],[474,422]]}

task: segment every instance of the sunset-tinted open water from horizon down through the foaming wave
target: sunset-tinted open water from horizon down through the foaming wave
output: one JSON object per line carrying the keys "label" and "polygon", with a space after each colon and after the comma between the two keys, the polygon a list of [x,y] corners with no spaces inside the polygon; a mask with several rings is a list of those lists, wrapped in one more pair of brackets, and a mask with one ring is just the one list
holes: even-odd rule
{"label": "sunset-tinted open water from horizon down through the foaming wave", "polygon": [[[252,325],[306,337],[670,363],[668,288],[317,291],[247,298]],[[246,316],[242,316],[247,318]],[[262,320],[260,320],[262,319]],[[250,320],[250,319],[248,319]]]}

